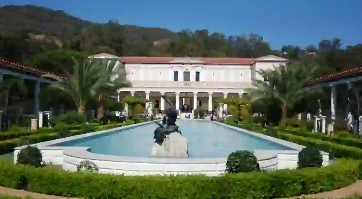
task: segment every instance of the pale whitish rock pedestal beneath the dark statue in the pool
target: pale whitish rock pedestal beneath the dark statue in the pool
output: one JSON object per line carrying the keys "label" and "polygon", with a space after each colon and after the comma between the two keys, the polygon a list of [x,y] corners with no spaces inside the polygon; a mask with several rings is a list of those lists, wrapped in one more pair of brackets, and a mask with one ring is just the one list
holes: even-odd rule
{"label": "pale whitish rock pedestal beneath the dark statue in the pool", "polygon": [[188,141],[179,133],[172,133],[166,136],[161,145],[153,144],[151,154],[159,158],[187,158]]}

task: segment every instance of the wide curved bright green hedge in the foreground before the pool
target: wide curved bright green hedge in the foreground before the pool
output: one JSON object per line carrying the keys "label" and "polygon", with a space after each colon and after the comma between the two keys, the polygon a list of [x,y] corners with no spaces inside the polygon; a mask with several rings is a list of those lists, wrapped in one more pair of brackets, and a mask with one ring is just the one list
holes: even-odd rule
{"label": "wide curved bright green hedge in the foreground before the pool", "polygon": [[354,183],[360,161],[341,159],[327,167],[274,172],[124,176],[67,172],[0,162],[0,186],[15,188],[22,175],[28,191],[78,198],[284,198],[331,191]]}

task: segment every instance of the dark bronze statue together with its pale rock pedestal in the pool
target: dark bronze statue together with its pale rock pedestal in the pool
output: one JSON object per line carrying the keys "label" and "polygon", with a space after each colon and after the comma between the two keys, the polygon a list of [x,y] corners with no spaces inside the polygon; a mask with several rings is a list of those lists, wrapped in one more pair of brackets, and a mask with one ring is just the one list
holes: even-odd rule
{"label": "dark bronze statue together with its pale rock pedestal in the pool", "polygon": [[155,143],[152,147],[152,156],[154,157],[171,157],[171,158],[187,158],[188,157],[188,142],[182,136],[181,131],[178,130],[176,125],[177,110],[173,104],[168,101],[165,96],[161,96],[171,106],[166,111],[167,121],[164,124],[155,122],[159,127],[155,130]]}

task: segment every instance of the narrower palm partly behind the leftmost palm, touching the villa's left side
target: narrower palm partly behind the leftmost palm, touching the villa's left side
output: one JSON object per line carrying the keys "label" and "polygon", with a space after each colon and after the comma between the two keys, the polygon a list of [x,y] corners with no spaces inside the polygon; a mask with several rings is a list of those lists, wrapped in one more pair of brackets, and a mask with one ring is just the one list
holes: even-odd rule
{"label": "narrower palm partly behind the leftmost palm, touching the villa's left side", "polygon": [[[105,60],[108,62],[108,60]],[[111,95],[117,94],[117,89],[129,87],[130,83],[127,81],[125,67],[117,64],[116,60],[111,60],[106,67],[109,79],[108,83],[100,86],[97,91],[98,111],[97,118],[100,119],[104,115],[104,105],[110,100]]]}

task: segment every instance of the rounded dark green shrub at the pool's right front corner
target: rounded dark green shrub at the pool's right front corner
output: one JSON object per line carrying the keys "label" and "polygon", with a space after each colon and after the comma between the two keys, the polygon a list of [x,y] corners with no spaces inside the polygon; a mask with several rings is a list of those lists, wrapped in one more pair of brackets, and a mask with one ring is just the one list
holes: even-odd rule
{"label": "rounded dark green shrub at the pool's right front corner", "polygon": [[298,168],[321,167],[322,163],[323,157],[314,146],[308,146],[298,154]]}

